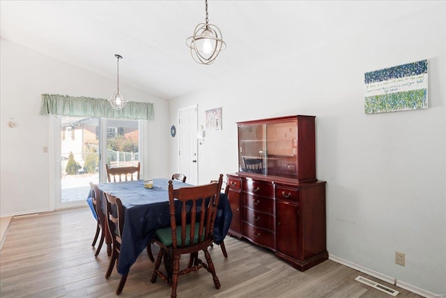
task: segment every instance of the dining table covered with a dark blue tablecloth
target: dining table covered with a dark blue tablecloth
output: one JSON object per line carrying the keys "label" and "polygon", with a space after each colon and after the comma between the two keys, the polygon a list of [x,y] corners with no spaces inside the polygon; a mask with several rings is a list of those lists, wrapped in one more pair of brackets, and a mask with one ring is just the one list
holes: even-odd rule
{"label": "dining table covered with a dark blue tablecloth", "polygon": [[[107,200],[104,193],[115,195],[123,203],[124,227],[121,252],[118,258],[118,272],[120,274],[128,274],[130,267],[136,262],[142,251],[146,246],[151,245],[157,229],[170,226],[169,180],[167,178],[153,179],[152,188],[145,188],[144,180],[96,184],[100,190],[101,208],[104,212]],[[191,185],[174,180],[173,186],[174,188],[181,188]],[[86,201],[93,212],[93,216],[95,216],[91,192]],[[231,220],[232,211],[229,200],[224,193],[220,193],[213,232],[215,244],[222,243],[231,225]],[[112,241],[109,232],[106,231],[106,233],[105,243],[109,253],[112,251]]]}

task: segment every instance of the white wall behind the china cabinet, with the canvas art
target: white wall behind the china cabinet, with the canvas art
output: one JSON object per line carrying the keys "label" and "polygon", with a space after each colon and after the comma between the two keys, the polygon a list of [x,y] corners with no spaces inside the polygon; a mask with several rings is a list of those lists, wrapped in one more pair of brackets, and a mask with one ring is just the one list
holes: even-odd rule
{"label": "white wall behind the china cabinet, with the canvas art", "polygon": [[[199,183],[237,171],[236,121],[315,115],[330,255],[444,295],[445,15],[439,1],[430,10],[172,101],[172,124],[181,107],[198,103],[203,126],[205,111],[222,107],[222,131],[206,131],[199,147]],[[300,40],[295,43],[299,47]],[[225,51],[231,50],[237,49],[228,45]],[[429,109],[364,114],[365,72],[422,59],[429,59]],[[176,140],[170,144],[174,172],[178,149]],[[395,264],[395,251],[406,253],[405,267]]]}

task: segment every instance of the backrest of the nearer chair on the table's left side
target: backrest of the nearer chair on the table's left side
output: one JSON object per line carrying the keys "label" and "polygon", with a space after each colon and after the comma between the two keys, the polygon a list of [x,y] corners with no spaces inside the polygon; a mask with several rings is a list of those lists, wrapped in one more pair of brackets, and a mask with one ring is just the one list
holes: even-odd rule
{"label": "backrest of the nearer chair on the table's left side", "polygon": [[[107,223],[114,247],[121,244],[121,237],[124,228],[124,209],[120,198],[104,193],[107,199]],[[117,243],[116,243],[117,242]]]}

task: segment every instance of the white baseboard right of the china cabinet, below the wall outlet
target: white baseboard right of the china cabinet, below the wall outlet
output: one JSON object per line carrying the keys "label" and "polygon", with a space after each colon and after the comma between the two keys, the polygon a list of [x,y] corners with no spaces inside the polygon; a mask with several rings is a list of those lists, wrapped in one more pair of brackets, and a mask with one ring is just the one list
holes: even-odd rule
{"label": "white baseboard right of the china cabinet, below the wall outlet", "polygon": [[417,295],[423,296],[423,297],[428,297],[428,298],[434,298],[434,297],[441,297],[438,295],[435,295],[433,292],[429,292],[423,289],[420,289],[418,287],[415,287],[415,285],[410,285],[409,283],[405,283],[403,281],[397,281],[395,278],[391,277],[391,276],[387,276],[385,274],[381,274],[377,271],[371,270],[369,268],[366,267],[362,267],[361,265],[357,265],[353,262],[350,262],[348,260],[344,260],[342,258],[338,258],[336,255],[328,255],[328,258],[334,262],[337,262],[339,264],[345,265],[347,267],[353,268],[357,271],[361,271],[364,274],[368,274],[369,276],[374,276],[378,279],[380,279],[381,281],[385,281],[386,283],[391,283],[392,285],[397,285],[397,287],[402,288],[404,290],[408,290],[410,292],[413,292]]}

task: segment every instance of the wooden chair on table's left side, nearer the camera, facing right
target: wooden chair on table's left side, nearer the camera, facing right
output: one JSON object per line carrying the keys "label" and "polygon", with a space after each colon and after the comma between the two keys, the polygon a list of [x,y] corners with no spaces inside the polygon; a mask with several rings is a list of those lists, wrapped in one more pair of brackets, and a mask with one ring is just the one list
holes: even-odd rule
{"label": "wooden chair on table's left side, nearer the camera, facing right", "polygon": [[[105,193],[105,198],[107,198],[107,223],[109,228],[109,233],[112,235],[112,259],[110,259],[109,267],[105,278],[109,278],[112,274],[114,265],[116,263],[116,269],[118,263],[116,262],[119,258],[119,253],[121,253],[121,243],[122,234],[124,228],[124,209],[121,199],[116,196]],[[147,246],[147,253],[149,258],[153,260],[153,255],[151,251],[151,244]],[[119,281],[118,288],[116,289],[116,295],[121,294],[123,291],[125,281],[127,281],[128,274],[123,274],[121,276],[121,281]]]}

